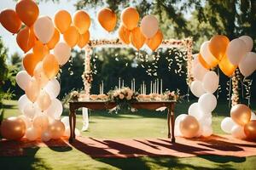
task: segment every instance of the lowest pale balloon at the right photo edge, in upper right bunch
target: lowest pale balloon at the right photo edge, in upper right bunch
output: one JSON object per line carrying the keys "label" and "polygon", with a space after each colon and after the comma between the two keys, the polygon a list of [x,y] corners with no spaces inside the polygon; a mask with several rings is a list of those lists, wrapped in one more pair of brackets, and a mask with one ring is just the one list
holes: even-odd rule
{"label": "lowest pale balloon at the right photo edge, in upper right bunch", "polygon": [[239,69],[244,77],[248,77],[256,70],[256,53],[248,52],[239,63]]}

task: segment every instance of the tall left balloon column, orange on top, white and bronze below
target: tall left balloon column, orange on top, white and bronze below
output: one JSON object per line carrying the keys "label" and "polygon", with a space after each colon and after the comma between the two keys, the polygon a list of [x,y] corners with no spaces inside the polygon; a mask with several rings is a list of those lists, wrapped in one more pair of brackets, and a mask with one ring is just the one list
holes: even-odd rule
{"label": "tall left balloon column, orange on top, white and bronze below", "polygon": [[[54,20],[38,15],[33,0],[20,0],[15,10],[4,9],[0,14],[2,26],[17,34],[16,42],[25,53],[25,71],[16,75],[17,84],[25,91],[18,101],[22,115],[3,121],[5,139],[26,135],[29,140],[48,141],[61,138],[67,129],[60,121],[63,108],[56,97],[61,87],[55,77],[70,58],[71,48],[83,48],[89,42],[90,16],[83,10],[73,14],[73,19],[65,10],[58,11]],[[59,42],[61,36],[64,42]]]}

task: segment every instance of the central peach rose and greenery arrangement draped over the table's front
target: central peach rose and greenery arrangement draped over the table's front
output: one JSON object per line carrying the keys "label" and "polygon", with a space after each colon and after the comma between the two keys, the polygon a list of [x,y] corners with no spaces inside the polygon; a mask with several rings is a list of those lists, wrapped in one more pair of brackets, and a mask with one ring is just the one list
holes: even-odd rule
{"label": "central peach rose and greenery arrangement draped over the table's front", "polygon": [[131,107],[131,102],[137,101],[137,93],[133,92],[131,88],[114,89],[108,92],[108,97],[110,101],[117,104],[116,111],[135,111]]}

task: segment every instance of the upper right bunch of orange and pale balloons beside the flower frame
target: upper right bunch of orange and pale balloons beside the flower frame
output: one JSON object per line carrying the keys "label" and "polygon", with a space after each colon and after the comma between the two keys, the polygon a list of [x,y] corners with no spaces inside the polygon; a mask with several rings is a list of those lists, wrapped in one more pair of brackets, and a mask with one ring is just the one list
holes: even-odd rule
{"label": "upper right bunch of orange and pale balloons beside the flower frame", "polygon": [[256,70],[256,54],[252,49],[251,37],[241,36],[230,41],[228,37],[215,35],[201,44],[199,61],[206,69],[218,65],[227,77],[232,76],[238,66],[241,74],[248,77]]}

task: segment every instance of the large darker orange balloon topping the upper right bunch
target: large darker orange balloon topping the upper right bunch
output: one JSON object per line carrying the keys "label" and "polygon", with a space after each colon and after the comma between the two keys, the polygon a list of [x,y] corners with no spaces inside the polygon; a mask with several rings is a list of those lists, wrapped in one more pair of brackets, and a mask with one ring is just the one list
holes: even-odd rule
{"label": "large darker orange balloon topping the upper right bunch", "polygon": [[230,40],[228,37],[222,35],[213,36],[209,43],[209,49],[212,55],[216,59],[221,60],[226,53],[226,48],[228,47],[229,42]]}

